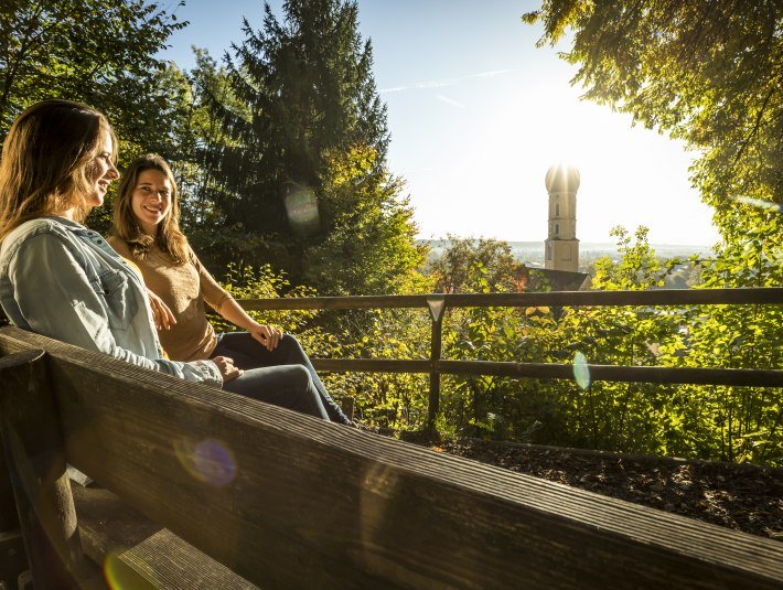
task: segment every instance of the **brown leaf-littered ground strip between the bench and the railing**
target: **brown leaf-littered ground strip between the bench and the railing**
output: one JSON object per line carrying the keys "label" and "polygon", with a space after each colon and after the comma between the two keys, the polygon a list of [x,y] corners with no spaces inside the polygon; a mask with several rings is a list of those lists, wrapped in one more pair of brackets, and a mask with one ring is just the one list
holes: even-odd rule
{"label": "brown leaf-littered ground strip between the bench and the railing", "polygon": [[428,446],[783,541],[783,469],[475,439]]}

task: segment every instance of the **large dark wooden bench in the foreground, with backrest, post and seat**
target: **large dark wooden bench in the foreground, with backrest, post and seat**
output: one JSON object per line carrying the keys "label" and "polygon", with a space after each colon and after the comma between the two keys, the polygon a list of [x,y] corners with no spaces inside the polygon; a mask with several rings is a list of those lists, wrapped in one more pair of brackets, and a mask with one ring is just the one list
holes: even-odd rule
{"label": "large dark wooden bench in the foreground, with backrest, post and seat", "polygon": [[[0,430],[36,588],[783,586],[777,541],[14,328]],[[101,487],[72,494],[66,462]]]}

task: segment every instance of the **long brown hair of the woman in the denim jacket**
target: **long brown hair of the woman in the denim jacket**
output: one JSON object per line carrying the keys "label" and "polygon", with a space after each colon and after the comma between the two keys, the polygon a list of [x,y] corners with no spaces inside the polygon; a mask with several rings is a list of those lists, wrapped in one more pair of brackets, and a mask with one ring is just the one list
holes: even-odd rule
{"label": "long brown hair of the woman in the denim jacket", "polygon": [[42,215],[76,208],[84,221],[93,190],[94,160],[105,132],[117,138],[106,117],[81,103],[44,100],[13,121],[0,161],[0,240],[14,227]]}

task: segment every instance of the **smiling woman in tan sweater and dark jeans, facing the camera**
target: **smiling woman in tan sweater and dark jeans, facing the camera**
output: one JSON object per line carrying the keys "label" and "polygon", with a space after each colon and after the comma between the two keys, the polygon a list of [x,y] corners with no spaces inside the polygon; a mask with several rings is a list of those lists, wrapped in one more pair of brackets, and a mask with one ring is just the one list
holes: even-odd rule
{"label": "smiling woman in tan sweater and dark jeans, facing the camera", "polygon": [[[329,417],[352,425],[319,378],[299,341],[250,318],[202,266],[180,230],[180,206],[171,168],[147,154],[128,165],[114,203],[109,244],[141,271],[153,297],[161,344],[176,361],[228,356],[242,369],[259,369],[258,389],[238,393],[267,399],[307,369]],[[216,334],[204,312],[212,307],[242,332]]]}

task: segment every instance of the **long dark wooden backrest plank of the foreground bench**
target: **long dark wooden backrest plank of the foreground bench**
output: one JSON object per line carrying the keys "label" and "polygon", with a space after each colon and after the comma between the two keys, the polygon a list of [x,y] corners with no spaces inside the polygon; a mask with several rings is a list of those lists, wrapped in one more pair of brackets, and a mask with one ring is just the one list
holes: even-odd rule
{"label": "long dark wooden backrest plank of the foreground bench", "polygon": [[769,539],[2,332],[50,351],[77,468],[265,588],[783,583]]}

